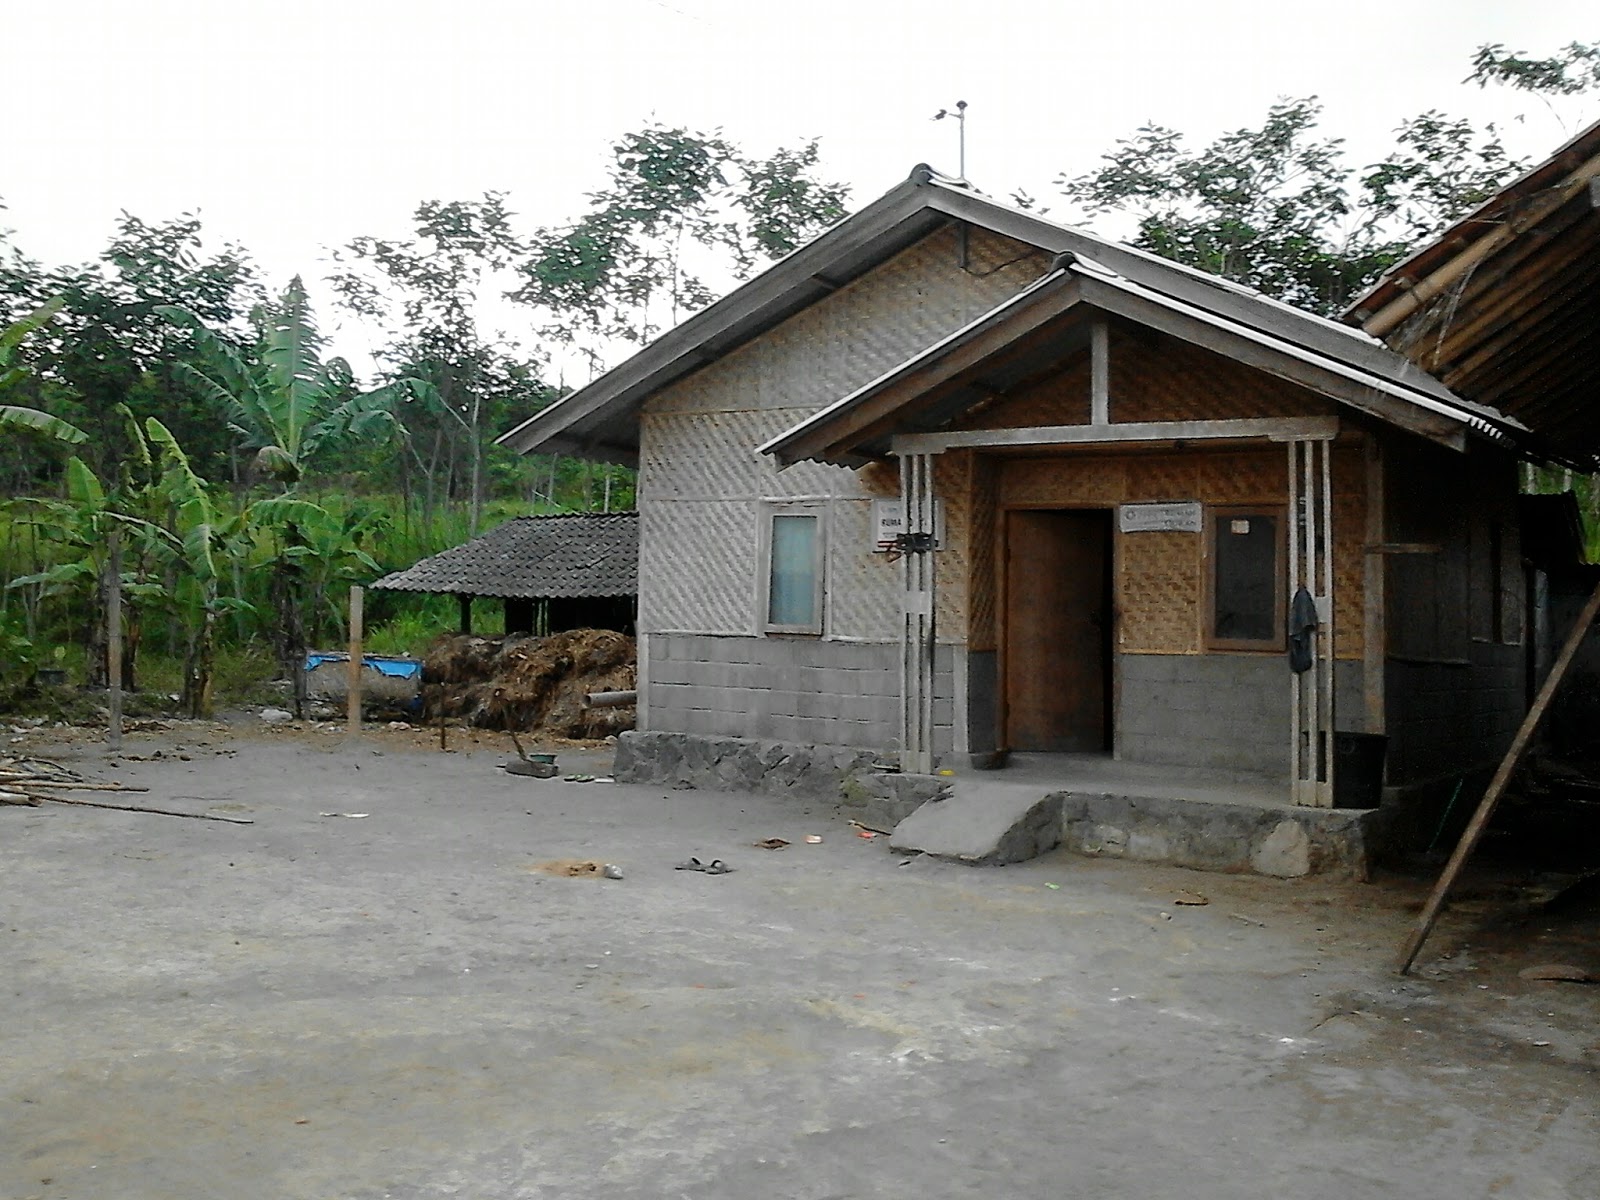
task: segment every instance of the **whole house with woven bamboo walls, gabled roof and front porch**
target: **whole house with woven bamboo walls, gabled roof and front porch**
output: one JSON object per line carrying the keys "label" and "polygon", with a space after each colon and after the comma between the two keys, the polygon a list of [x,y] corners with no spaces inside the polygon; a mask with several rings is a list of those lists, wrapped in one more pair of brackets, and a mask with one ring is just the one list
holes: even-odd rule
{"label": "whole house with woven bamboo walls, gabled roof and front porch", "polygon": [[1414,784],[1515,730],[1523,432],[918,168],[502,440],[638,466],[642,730],[1109,752],[1328,805],[1334,731]]}

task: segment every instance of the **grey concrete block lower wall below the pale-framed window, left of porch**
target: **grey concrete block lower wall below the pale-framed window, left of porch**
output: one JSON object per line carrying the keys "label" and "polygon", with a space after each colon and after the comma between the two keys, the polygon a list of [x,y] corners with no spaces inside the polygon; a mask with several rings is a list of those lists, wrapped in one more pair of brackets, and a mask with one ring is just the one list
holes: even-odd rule
{"label": "grey concrete block lower wall below the pale-framed window, left of porch", "polygon": [[[808,746],[899,749],[899,646],[650,634],[645,728]],[[934,654],[934,752],[954,746],[952,646]]]}

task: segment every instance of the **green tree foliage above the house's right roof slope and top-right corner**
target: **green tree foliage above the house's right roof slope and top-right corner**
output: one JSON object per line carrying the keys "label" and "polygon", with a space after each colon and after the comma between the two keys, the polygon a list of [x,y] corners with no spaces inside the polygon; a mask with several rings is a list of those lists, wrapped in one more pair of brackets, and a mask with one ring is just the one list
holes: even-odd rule
{"label": "green tree foliage above the house's right roof slope and top-right corner", "polygon": [[[1483,46],[1470,78],[1573,94],[1594,86],[1597,61],[1600,46],[1579,43],[1554,59]],[[1389,155],[1354,170],[1320,120],[1314,96],[1283,99],[1259,126],[1198,150],[1150,123],[1056,182],[1091,219],[1133,218],[1136,246],[1333,314],[1525,168],[1494,125],[1429,110],[1395,130]]]}

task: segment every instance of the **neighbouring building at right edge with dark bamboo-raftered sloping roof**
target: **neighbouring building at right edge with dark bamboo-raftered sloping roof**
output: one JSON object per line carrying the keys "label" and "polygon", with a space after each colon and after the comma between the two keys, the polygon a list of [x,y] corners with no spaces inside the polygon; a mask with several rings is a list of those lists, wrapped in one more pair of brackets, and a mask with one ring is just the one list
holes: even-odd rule
{"label": "neighbouring building at right edge with dark bamboo-raftered sloping roof", "polygon": [[[1600,467],[1600,123],[1397,264],[1346,320],[1458,395],[1522,421],[1518,443],[1530,458]],[[1582,563],[1570,496],[1522,504],[1533,616],[1526,664],[1536,680],[1595,571]],[[1400,563],[1390,571],[1403,574]],[[1600,646],[1590,638],[1557,698],[1550,733],[1570,752],[1595,754],[1597,714]]]}

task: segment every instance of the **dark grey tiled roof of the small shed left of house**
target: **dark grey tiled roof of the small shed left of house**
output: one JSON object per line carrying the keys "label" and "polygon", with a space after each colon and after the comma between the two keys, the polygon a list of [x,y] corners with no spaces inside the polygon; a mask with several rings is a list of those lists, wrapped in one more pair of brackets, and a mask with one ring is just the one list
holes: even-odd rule
{"label": "dark grey tiled roof of the small shed left of house", "polygon": [[392,592],[450,592],[514,600],[635,595],[638,514],[514,517],[373,584]]}

